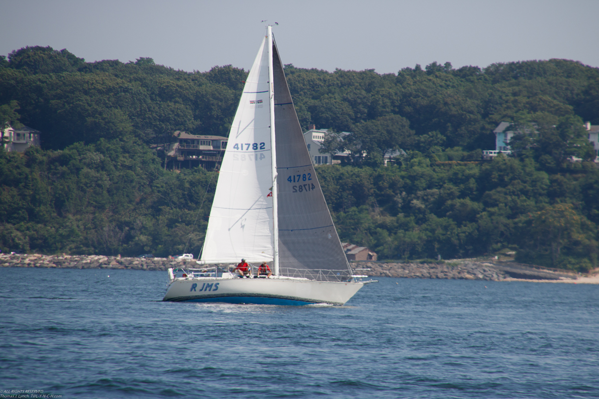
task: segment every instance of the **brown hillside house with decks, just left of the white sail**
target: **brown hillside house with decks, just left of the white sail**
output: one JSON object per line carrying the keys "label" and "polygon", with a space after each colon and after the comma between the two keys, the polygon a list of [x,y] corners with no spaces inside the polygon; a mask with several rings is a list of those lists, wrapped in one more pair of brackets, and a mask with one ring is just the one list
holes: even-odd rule
{"label": "brown hillside house with decks, just left of the white sail", "polygon": [[[222,161],[225,154],[227,138],[211,135],[190,135],[177,130],[173,133],[173,141],[166,148],[166,163],[179,170],[181,167],[201,166],[214,168]],[[162,149],[157,146],[157,149]]]}

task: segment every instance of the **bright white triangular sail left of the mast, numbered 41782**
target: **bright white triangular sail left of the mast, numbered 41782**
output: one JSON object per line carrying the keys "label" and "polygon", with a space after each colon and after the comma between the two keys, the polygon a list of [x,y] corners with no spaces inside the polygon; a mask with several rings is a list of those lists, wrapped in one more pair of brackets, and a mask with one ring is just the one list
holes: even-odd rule
{"label": "bright white triangular sail left of the mast, numbered 41782", "polygon": [[200,260],[273,260],[273,173],[264,38],[235,114]]}

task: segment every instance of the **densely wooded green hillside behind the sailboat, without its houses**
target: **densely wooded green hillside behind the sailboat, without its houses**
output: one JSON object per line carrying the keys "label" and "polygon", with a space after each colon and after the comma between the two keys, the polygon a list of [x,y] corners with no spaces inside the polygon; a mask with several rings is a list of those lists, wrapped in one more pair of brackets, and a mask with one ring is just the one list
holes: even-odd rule
{"label": "densely wooded green hillside behind the sailboat, without its houses", "polygon": [[[367,154],[318,169],[342,240],[379,258],[511,249],[523,262],[597,264],[599,172],[582,127],[599,124],[597,68],[285,71],[302,126],[353,132],[343,145]],[[165,171],[149,145],[174,130],[226,136],[246,75],[174,71],[150,58],[86,63],[49,47],[0,57],[0,123],[43,139],[41,149],[0,153],[0,249],[197,255],[216,176]],[[513,157],[479,162],[501,121],[535,133],[513,143]],[[407,156],[383,167],[382,154],[399,148]]]}

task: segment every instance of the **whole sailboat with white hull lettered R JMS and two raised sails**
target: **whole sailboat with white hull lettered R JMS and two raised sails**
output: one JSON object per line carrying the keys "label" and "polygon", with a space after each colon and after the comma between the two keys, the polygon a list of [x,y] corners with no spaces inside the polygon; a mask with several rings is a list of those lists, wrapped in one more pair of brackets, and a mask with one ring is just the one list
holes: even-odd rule
{"label": "whole sailboat with white hull lettered R JMS and two raised sails", "polygon": [[[240,278],[231,266],[242,258],[273,274]],[[231,125],[197,263],[182,276],[168,269],[164,301],[341,305],[368,282],[341,246],[271,26]]]}

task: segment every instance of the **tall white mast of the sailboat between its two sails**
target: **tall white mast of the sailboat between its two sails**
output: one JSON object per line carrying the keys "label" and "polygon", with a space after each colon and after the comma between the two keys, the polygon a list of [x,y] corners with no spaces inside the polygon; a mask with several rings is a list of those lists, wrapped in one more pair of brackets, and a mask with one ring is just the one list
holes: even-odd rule
{"label": "tall white mast of the sailboat between its two sails", "polygon": [[268,106],[270,106],[271,169],[273,172],[273,269],[279,275],[279,197],[277,190],[277,145],[274,135],[274,75],[273,75],[273,27],[268,25]]}

